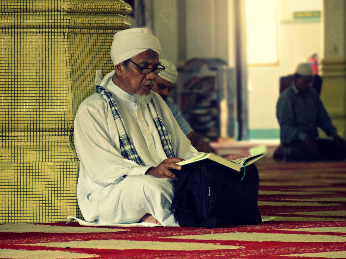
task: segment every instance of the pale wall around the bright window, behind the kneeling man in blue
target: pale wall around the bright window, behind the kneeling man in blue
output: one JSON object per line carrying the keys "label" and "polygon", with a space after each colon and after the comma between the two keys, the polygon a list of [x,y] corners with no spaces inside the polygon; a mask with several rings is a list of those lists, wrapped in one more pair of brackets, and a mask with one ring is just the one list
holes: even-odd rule
{"label": "pale wall around the bright window, behind the kneeling man in blue", "polygon": [[[293,11],[322,11],[322,0],[278,0],[277,65],[249,66],[249,128],[279,129],[276,102],[279,98],[279,78],[293,74],[298,63],[317,53],[323,58],[323,28],[320,23],[294,23]],[[323,15],[323,12],[322,12]],[[322,19],[321,19],[322,21]]]}

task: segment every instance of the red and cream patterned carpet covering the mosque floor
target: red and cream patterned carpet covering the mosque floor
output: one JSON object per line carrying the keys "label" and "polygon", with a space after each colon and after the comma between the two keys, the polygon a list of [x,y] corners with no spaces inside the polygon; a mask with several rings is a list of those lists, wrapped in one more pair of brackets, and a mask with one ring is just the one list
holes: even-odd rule
{"label": "red and cream patterned carpet covering the mosque floor", "polygon": [[[220,145],[218,150],[246,153],[248,146]],[[276,218],[262,225],[2,224],[0,258],[346,258],[346,163],[289,164],[267,157],[257,168],[260,212]]]}

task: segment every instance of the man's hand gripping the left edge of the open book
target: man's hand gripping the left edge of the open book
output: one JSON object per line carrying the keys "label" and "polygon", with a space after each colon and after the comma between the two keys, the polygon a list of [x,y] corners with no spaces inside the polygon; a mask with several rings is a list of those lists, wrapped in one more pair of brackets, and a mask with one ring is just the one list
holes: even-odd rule
{"label": "man's hand gripping the left edge of the open book", "polygon": [[175,163],[179,163],[181,161],[184,161],[184,159],[181,159],[179,157],[167,158],[163,160],[160,164],[158,164],[158,166],[149,168],[145,174],[153,175],[157,178],[171,178],[177,180],[178,178],[176,177],[176,175],[172,173],[169,169],[171,168],[180,170],[181,166]]}

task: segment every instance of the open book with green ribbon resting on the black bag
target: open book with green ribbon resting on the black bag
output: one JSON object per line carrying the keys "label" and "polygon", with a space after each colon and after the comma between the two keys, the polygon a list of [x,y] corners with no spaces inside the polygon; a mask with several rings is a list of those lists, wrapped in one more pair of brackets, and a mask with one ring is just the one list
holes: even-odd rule
{"label": "open book with green ribbon resting on the black bag", "polygon": [[176,163],[177,165],[181,165],[184,168],[184,165],[189,165],[190,166],[194,166],[194,165],[198,165],[201,163],[201,161],[207,160],[205,162],[210,162],[210,161],[214,161],[218,164],[227,166],[233,170],[236,170],[238,172],[242,171],[242,168],[248,165],[251,165],[253,163],[255,163],[256,161],[262,159],[266,154],[258,154],[258,155],[252,155],[252,156],[247,156],[247,157],[243,157],[240,159],[236,159],[236,160],[228,160],[225,159],[221,156],[215,155],[213,153],[203,153],[200,154],[198,156],[192,157],[191,159]]}

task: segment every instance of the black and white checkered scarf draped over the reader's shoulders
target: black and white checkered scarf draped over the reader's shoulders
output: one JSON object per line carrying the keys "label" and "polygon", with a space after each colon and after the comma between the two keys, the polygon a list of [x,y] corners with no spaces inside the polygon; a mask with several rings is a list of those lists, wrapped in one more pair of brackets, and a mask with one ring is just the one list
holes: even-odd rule
{"label": "black and white checkered scarf draped over the reader's shoulders", "polygon": [[[132,145],[132,143],[130,141],[130,138],[129,138],[129,136],[126,132],[125,126],[124,126],[124,121],[120,115],[120,112],[119,112],[118,107],[117,107],[117,105],[116,105],[116,103],[112,97],[112,94],[110,92],[108,92],[106,89],[104,89],[102,86],[99,86],[99,85],[97,85],[95,87],[95,92],[105,96],[108,100],[109,106],[110,106],[112,114],[113,114],[115,124],[116,124],[117,129],[118,129],[118,133],[119,133],[121,155],[125,159],[132,160],[139,165],[144,165],[143,161],[140,159],[139,155],[137,154],[135,147]],[[167,131],[166,131],[166,128],[163,125],[161,118],[157,114],[153,100],[151,100],[147,104],[147,106],[148,106],[150,115],[153,118],[154,124],[157,128],[158,134],[160,135],[162,148],[165,151],[167,158],[175,156],[173,149],[172,149],[171,141],[170,141],[169,136],[168,136]]]}

